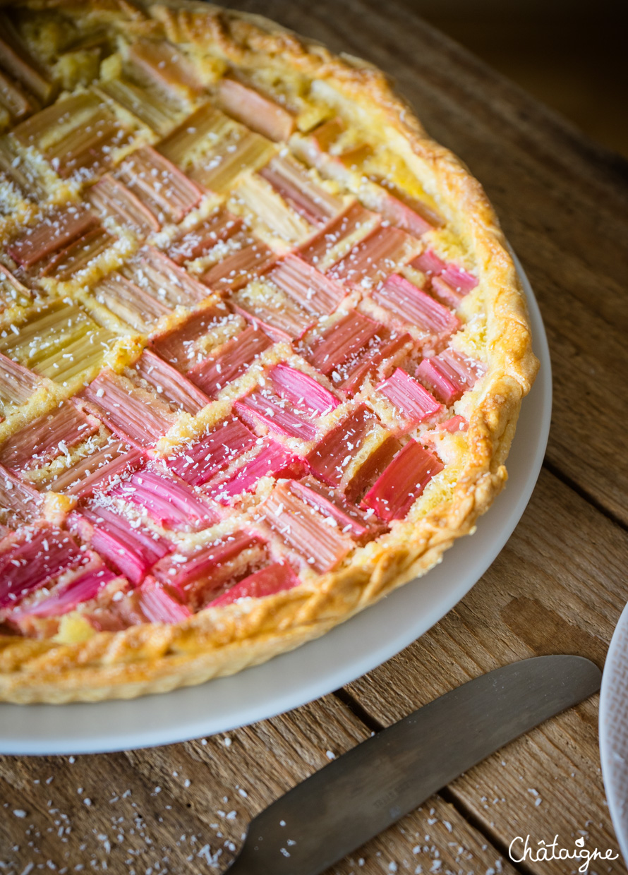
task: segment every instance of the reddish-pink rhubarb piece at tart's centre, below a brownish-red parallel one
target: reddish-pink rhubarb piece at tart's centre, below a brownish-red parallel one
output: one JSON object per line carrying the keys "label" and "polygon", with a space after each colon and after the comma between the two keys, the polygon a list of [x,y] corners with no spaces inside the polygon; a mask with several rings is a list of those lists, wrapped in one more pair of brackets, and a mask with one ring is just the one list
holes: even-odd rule
{"label": "reddish-pink rhubarb piece at tart's centre, below a brownish-red parallel one", "polygon": [[216,353],[191,367],[187,375],[206,395],[215,398],[221,388],[241,376],[270,345],[267,334],[249,325],[243,332],[227,340]]}

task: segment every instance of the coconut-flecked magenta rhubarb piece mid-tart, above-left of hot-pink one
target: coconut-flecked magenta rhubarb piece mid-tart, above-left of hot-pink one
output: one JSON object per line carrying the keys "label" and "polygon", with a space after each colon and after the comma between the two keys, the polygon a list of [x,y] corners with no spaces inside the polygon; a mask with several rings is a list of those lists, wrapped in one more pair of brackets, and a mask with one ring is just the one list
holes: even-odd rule
{"label": "coconut-flecked magenta rhubarb piece mid-tart, above-left of hot-pink one", "polygon": [[235,416],[221,423],[191,446],[166,458],[168,468],[191,486],[200,486],[216,472],[250,449],[257,437]]}

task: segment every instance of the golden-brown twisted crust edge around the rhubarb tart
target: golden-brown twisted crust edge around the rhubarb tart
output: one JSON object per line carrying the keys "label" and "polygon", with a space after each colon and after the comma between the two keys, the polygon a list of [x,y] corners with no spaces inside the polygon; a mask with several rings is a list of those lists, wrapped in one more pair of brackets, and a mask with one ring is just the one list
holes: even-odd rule
{"label": "golden-brown twisted crust edge around the rhubarb tart", "polygon": [[[31,4],[86,9],[129,19],[137,36],[159,32],[172,42],[219,45],[234,66],[263,68],[270,61],[306,78],[330,83],[347,105],[373,124],[385,124],[391,141],[405,144],[457,235],[474,255],[486,316],[488,372],[469,417],[469,451],[450,498],[416,521],[350,558],[338,571],[266,598],[206,608],[175,625],[145,624],[87,641],[0,637],[0,699],[13,703],[65,703],[130,698],[203,683],[264,662],[324,634],[373,605],[397,586],[441,561],[460,536],[471,534],[480,514],[506,483],[508,453],[520,403],[538,362],[531,349],[527,306],[504,236],[482,187],[461,162],[431,140],[411,109],[394,95],[375,67],[298,37],[267,19],[207,4],[169,2],[142,7],[123,0]],[[365,558],[366,556],[366,558]]]}

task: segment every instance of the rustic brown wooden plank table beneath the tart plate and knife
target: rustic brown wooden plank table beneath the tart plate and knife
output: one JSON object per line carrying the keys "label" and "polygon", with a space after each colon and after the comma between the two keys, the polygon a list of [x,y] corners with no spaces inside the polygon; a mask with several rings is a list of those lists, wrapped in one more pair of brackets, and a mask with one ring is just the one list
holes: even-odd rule
{"label": "rustic brown wooden plank table beneath the tart plate and knife", "polygon": [[[555,403],[538,486],[512,538],[429,634],[281,717],[154,750],[0,762],[0,871],[222,872],[251,816],[371,732],[471,677],[535,654],[598,665],[628,598],[628,165],[416,17],[410,0],[240,0],[391,73],[480,179],[534,286]],[[488,519],[486,520],[488,522]],[[405,817],[334,875],[494,872],[515,836],[617,850],[597,697],[530,732]],[[625,872],[618,859],[592,872]],[[269,872],[269,875],[272,875]]]}

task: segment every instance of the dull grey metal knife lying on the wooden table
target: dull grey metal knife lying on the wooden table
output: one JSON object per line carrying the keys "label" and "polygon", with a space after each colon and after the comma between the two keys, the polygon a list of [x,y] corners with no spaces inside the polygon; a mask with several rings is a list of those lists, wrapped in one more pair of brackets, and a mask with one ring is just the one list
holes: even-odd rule
{"label": "dull grey metal knife lying on the wooden table", "polygon": [[251,821],[229,875],[319,875],[523,732],[600,689],[582,656],[464,683],[297,784]]}

